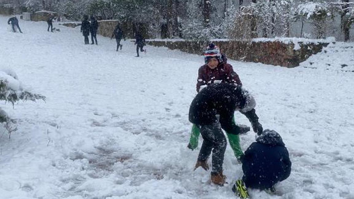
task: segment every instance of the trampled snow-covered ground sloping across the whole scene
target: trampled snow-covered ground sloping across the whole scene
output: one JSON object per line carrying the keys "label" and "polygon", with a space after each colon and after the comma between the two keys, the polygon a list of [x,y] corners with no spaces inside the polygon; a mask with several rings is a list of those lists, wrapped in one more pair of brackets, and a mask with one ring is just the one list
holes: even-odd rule
{"label": "trampled snow-covered ground sloping across the whole scene", "polygon": [[[55,24],[61,32],[50,33],[46,22],[20,20],[20,34],[7,19],[0,67],[47,99],[1,105],[18,126],[0,138],[1,199],[236,198],[242,170],[230,147],[224,187],[193,171],[198,150],[186,147],[201,56],[147,46],[136,58],[130,41],[115,52],[102,36],[84,45],[80,27]],[[229,60],[292,160],[291,176],[276,185],[281,196],[251,190],[252,198],[354,199],[354,73],[342,71],[353,68],[353,45],[331,44],[292,69]],[[241,136],[242,148],[254,140]]]}

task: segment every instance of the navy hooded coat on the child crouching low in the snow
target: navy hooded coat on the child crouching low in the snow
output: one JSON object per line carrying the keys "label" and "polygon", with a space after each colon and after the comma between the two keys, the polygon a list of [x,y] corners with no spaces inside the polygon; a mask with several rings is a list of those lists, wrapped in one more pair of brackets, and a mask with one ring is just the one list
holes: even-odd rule
{"label": "navy hooded coat on the child crouching low in the snow", "polygon": [[264,130],[256,141],[242,160],[243,180],[246,187],[267,189],[290,176],[289,152],[275,131]]}

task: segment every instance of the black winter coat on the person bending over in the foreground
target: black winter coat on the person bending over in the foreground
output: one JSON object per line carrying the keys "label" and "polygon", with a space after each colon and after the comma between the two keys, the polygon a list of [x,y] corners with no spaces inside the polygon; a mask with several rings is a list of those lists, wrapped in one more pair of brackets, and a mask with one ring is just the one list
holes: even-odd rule
{"label": "black winter coat on the person bending over in the foreground", "polygon": [[246,97],[241,87],[234,84],[211,84],[202,89],[193,99],[189,108],[189,121],[196,125],[211,125],[219,122],[222,129],[228,133],[238,134],[239,127],[233,123],[236,107],[245,106]]}

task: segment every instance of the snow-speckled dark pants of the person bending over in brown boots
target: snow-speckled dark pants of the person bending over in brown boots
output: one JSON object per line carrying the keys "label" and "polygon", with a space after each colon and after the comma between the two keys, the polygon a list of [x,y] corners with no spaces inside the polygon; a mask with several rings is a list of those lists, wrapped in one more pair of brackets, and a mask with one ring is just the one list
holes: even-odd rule
{"label": "snow-speckled dark pants of the person bending over in brown boots", "polygon": [[199,127],[200,134],[204,141],[199,152],[198,160],[208,159],[211,151],[213,151],[211,172],[221,172],[227,144],[221,126],[216,122],[212,125],[199,125]]}

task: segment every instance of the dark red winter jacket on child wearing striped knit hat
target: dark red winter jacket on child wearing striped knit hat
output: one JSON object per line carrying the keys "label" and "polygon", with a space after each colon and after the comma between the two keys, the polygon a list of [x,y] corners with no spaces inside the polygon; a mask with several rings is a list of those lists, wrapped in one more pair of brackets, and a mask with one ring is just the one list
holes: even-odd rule
{"label": "dark red winter jacket on child wearing striped knit hat", "polygon": [[213,84],[215,80],[221,80],[227,83],[234,83],[242,86],[239,75],[234,72],[232,66],[228,63],[220,63],[216,68],[210,69],[207,64],[199,68],[196,89],[200,90],[202,85]]}

